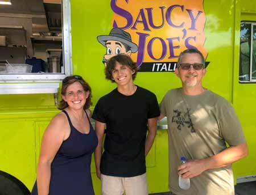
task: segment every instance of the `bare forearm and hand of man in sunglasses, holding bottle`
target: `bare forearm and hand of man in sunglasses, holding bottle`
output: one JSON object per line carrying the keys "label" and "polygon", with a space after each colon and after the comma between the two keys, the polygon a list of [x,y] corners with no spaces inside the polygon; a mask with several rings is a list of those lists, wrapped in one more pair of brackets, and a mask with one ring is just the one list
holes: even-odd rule
{"label": "bare forearm and hand of man in sunglasses, holding bottle", "polygon": [[228,164],[245,158],[247,154],[248,149],[246,143],[230,146],[210,158],[188,160],[187,163],[181,164],[178,167],[178,174],[182,175],[183,178],[192,178],[208,169],[225,167]]}

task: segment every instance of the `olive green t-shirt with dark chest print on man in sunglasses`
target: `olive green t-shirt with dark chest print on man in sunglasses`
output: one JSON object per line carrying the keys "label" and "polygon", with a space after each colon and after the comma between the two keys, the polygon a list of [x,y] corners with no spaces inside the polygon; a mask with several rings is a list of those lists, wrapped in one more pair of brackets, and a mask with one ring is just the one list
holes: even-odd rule
{"label": "olive green t-shirt with dark chest print on man in sunglasses", "polygon": [[182,88],[170,90],[164,96],[161,113],[167,116],[169,140],[169,188],[175,194],[234,194],[232,166],[208,169],[190,179],[191,188],[179,188],[177,167],[181,156],[204,159],[229,146],[245,143],[241,124],[227,100],[206,90],[190,96]]}

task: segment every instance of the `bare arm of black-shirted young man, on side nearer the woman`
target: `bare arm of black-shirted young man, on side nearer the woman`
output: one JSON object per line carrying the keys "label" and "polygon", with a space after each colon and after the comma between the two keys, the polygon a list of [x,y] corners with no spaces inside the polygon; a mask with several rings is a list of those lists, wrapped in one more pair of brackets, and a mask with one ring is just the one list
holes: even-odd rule
{"label": "bare arm of black-shirted young man, on side nearer the woman", "polygon": [[94,151],[94,159],[95,159],[97,177],[98,179],[101,179],[100,164],[101,164],[101,152],[102,152],[102,138],[105,132],[105,123],[100,121],[95,121],[95,131],[98,137],[98,145]]}

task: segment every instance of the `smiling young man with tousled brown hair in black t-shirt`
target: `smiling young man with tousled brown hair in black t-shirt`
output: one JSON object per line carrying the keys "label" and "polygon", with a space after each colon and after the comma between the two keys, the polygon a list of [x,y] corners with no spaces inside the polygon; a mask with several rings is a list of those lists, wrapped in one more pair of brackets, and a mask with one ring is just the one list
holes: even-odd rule
{"label": "smiling young man with tousled brown hair in black t-shirt", "polygon": [[105,75],[117,88],[100,98],[94,108],[95,162],[103,195],[148,194],[145,156],[154,142],[160,111],[156,96],[133,83],[136,74],[136,63],[130,57],[118,54],[110,58]]}

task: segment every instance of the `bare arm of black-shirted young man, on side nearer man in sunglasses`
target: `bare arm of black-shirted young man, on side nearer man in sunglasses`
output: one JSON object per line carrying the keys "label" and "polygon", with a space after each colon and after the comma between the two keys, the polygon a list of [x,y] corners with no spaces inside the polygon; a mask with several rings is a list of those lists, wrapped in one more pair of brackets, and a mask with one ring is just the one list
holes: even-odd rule
{"label": "bare arm of black-shirted young man, on side nearer man in sunglasses", "polygon": [[146,143],[145,143],[145,155],[148,154],[148,152],[150,151],[154,143],[156,129],[157,129],[157,121],[158,121],[158,117],[148,118],[147,120],[148,134],[147,134]]}

